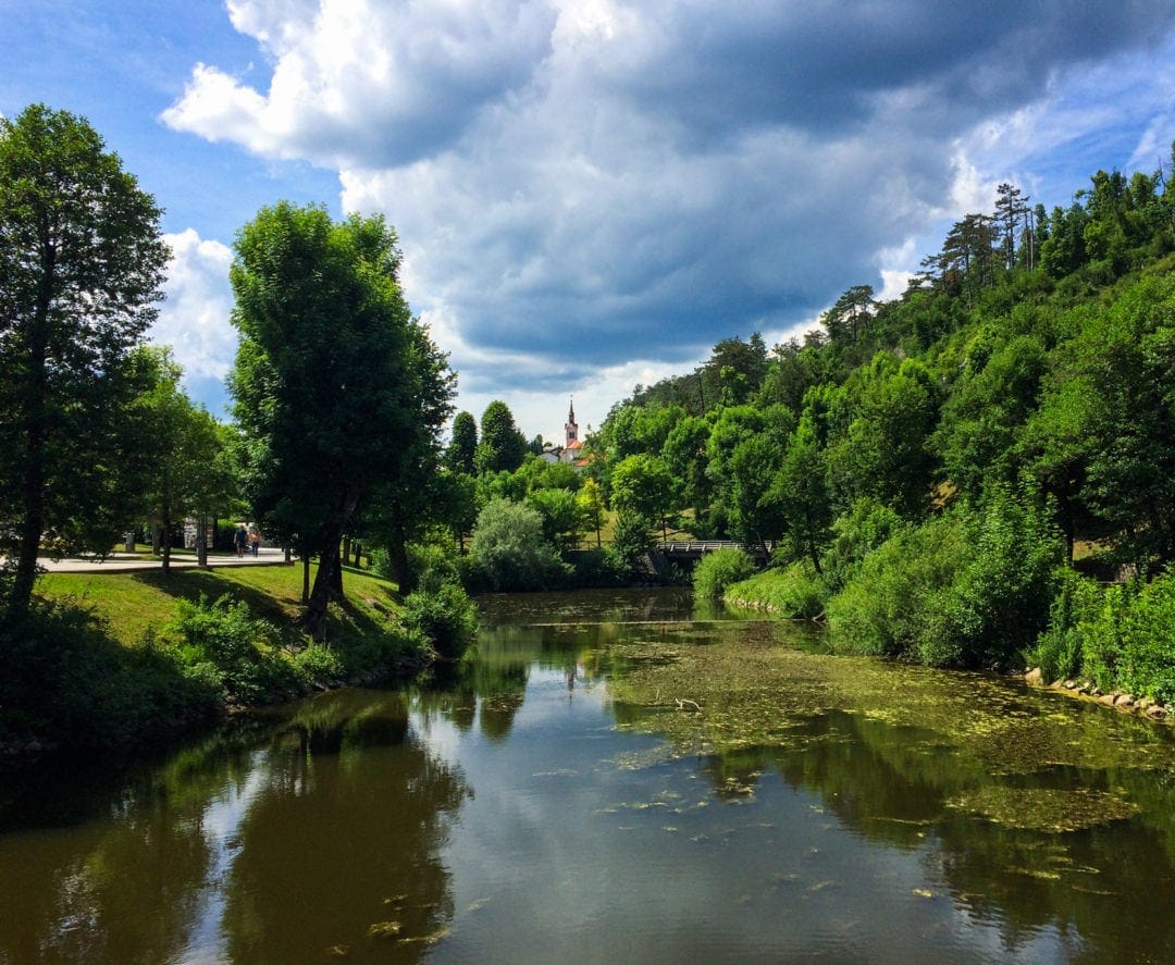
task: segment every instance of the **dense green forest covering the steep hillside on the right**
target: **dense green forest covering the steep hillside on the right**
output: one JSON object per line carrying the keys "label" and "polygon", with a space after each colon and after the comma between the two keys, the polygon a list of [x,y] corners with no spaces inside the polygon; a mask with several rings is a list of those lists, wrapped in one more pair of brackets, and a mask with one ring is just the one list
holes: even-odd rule
{"label": "dense green forest covering the steep hillside on the right", "polygon": [[637,387],[591,473],[774,545],[744,592],[841,649],[1170,699],[1175,186],[1099,170],[1068,207],[1029,200],[1000,185],[898,299],[852,286],[803,341],[724,340]]}

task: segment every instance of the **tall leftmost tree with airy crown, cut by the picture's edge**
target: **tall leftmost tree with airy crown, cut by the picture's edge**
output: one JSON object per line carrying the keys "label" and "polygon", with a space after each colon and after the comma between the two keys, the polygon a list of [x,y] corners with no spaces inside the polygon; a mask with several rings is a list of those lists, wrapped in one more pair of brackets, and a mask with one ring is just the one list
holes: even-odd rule
{"label": "tall leftmost tree with airy crown, cut by the picture's edge", "polygon": [[42,536],[105,552],[125,523],[110,512],[123,376],[162,299],[160,214],[83,119],[43,105],[0,119],[0,549],[14,614]]}

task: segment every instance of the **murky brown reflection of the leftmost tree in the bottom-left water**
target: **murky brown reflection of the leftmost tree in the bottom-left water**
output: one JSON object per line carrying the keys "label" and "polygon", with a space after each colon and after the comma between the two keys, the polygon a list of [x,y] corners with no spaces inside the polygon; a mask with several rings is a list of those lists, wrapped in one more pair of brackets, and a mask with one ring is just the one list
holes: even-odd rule
{"label": "murky brown reflection of the leftmost tree in the bottom-left water", "polygon": [[237,740],[207,738],[163,764],[24,776],[0,835],[0,961],[173,960],[214,863],[208,803],[246,762]]}

